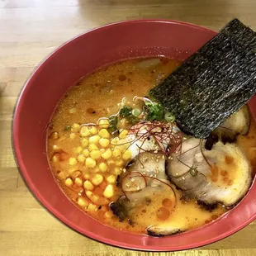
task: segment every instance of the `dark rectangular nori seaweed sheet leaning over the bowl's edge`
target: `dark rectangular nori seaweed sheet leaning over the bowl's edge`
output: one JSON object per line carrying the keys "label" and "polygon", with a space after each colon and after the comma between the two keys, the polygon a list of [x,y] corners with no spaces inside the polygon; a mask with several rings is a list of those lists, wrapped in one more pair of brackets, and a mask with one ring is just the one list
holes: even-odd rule
{"label": "dark rectangular nori seaweed sheet leaning over the bowl's edge", "polygon": [[238,19],[149,91],[187,134],[206,138],[256,92],[256,33]]}

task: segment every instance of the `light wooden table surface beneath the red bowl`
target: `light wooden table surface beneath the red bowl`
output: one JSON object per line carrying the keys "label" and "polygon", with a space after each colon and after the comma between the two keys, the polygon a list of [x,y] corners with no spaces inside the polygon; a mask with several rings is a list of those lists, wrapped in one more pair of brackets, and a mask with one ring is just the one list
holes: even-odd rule
{"label": "light wooden table surface beneath the red bowl", "polygon": [[[22,182],[12,154],[12,113],[26,78],[46,55],[112,21],[164,18],[219,30],[238,17],[256,31],[255,13],[255,0],[0,0],[0,255],[152,255],[69,230]],[[253,256],[255,242],[256,222],[215,244],[173,255]]]}

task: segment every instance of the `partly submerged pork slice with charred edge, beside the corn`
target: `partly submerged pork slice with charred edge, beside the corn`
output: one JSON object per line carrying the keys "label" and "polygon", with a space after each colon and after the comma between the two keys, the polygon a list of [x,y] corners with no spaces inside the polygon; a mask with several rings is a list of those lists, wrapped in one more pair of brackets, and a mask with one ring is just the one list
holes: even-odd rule
{"label": "partly submerged pork slice with charred edge, beside the corn", "polygon": [[149,196],[161,193],[166,188],[163,183],[159,183],[154,178],[168,183],[164,154],[144,152],[130,161],[126,167],[126,173],[123,173],[120,178],[120,186],[126,195],[110,205],[111,210],[120,220],[129,216],[129,211],[134,207],[146,204]]}

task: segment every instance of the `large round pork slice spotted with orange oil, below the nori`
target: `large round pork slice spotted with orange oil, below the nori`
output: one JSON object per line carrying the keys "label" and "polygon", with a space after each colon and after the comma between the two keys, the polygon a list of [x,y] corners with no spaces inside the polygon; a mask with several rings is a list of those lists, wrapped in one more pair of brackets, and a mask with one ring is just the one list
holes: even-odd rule
{"label": "large round pork slice spotted with orange oil, below the nori", "polygon": [[232,206],[244,197],[252,181],[249,161],[235,144],[217,142],[206,150],[200,140],[191,138],[172,158],[167,163],[170,180],[187,197],[206,204]]}

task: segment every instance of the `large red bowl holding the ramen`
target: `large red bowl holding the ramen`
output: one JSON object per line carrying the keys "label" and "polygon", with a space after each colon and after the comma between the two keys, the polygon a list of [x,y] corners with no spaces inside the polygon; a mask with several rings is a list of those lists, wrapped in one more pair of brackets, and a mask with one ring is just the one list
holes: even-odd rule
{"label": "large red bowl holding the ramen", "polygon": [[[13,145],[27,186],[48,211],[92,239],[127,249],[152,251],[191,249],[210,244],[255,219],[256,185],[253,184],[239,205],[200,229],[163,238],[115,230],[93,220],[69,201],[55,182],[46,157],[46,126],[59,99],[78,78],[121,59],[156,55],[186,59],[215,35],[215,31],[178,21],[124,21],[70,40],[40,64],[17,102]],[[254,100],[250,107],[256,111]]]}

